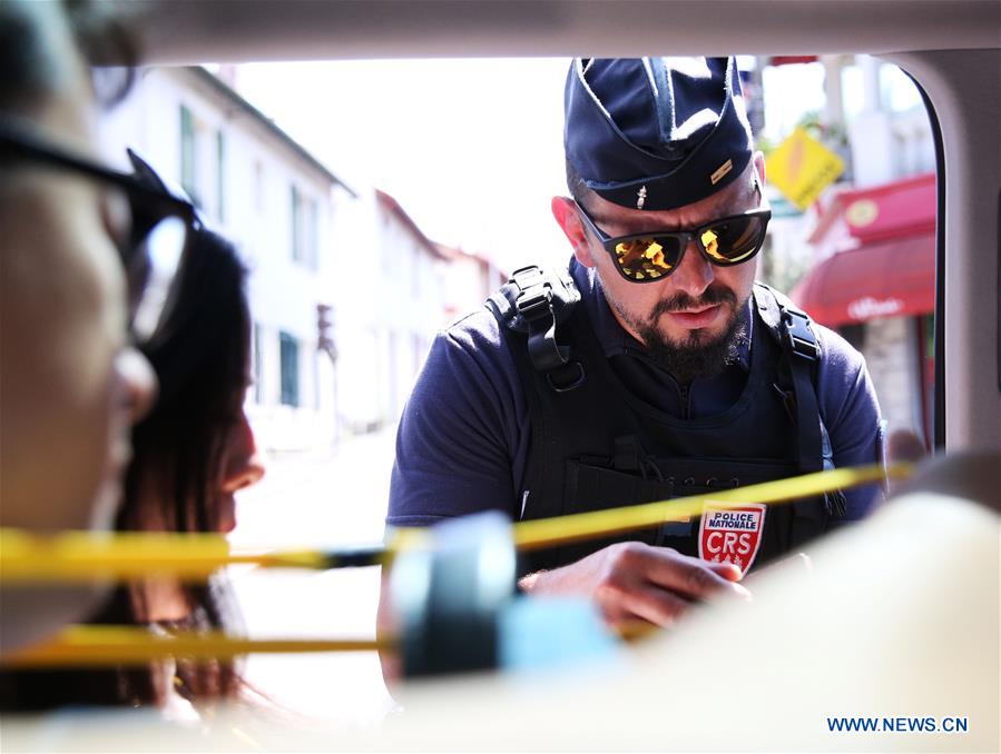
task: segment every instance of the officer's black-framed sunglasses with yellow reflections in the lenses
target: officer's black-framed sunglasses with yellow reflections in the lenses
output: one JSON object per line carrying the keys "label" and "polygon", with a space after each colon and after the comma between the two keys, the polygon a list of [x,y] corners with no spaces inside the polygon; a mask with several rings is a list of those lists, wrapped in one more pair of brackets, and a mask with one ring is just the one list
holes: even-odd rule
{"label": "officer's black-framed sunglasses with yellow reflections in the lenses", "polygon": [[678,269],[685,249],[693,241],[707,261],[732,267],[748,261],[760,251],[772,219],[771,209],[710,220],[689,230],[650,230],[611,237],[601,230],[576,200],[581,217],[608,251],[616,269],[630,282],[654,282]]}

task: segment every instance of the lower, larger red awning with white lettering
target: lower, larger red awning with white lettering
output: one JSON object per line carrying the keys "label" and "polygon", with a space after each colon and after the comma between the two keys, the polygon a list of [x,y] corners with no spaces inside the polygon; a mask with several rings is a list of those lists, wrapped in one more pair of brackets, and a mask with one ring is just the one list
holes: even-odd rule
{"label": "lower, larger red awning with white lettering", "polygon": [[835,254],[807,272],[791,298],[827,327],[931,314],[935,237],[923,234]]}

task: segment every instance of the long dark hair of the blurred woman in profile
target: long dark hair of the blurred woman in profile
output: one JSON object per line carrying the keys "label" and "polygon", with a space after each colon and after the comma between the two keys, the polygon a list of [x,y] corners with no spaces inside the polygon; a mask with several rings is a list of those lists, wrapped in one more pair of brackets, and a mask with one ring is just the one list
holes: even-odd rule
{"label": "long dark hair of the blurred woman in profile", "polygon": [[[160,385],[153,411],[133,433],[134,457],[117,528],[217,532],[216,499],[225,443],[243,416],[251,364],[246,269],[233,245],[200,229],[185,262],[170,317],[145,355]],[[150,510],[150,488],[161,509]],[[185,628],[218,628],[235,619],[223,581],[181,584],[192,614]],[[135,603],[137,597],[133,597]],[[149,606],[154,607],[154,606]],[[147,606],[133,604],[139,616]],[[233,665],[178,666],[180,691],[193,698],[238,689]]]}

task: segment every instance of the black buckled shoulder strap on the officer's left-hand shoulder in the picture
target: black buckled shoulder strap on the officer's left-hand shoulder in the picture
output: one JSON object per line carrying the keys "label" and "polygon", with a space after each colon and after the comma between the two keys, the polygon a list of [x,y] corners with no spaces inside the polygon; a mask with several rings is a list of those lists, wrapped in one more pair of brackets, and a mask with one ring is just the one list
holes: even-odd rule
{"label": "black buckled shoulder strap on the officer's left-hand shoulder in the picture", "polygon": [[547,375],[555,389],[572,389],[583,379],[579,363],[571,363],[570,346],[557,340],[557,325],[566,321],[580,301],[569,272],[522,267],[487,299],[504,327],[528,335],[532,367]]}

